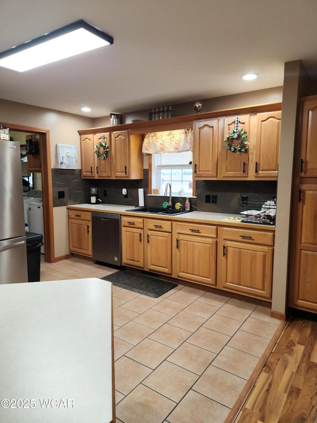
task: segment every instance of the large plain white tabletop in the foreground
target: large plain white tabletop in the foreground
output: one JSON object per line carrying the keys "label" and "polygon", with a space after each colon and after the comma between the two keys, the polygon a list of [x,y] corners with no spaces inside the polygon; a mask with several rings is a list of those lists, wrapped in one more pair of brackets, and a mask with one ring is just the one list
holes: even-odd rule
{"label": "large plain white tabletop in the foreground", "polygon": [[115,421],[111,284],[0,285],[0,422]]}

